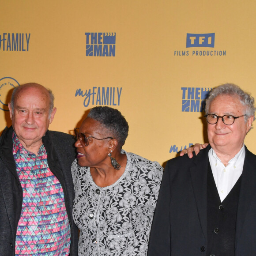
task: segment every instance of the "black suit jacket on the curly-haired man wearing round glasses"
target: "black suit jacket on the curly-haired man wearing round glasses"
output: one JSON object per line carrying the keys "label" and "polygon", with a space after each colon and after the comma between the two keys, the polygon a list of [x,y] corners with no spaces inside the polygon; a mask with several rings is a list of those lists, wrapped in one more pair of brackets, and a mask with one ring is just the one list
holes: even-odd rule
{"label": "black suit jacket on the curly-haired man wearing round glasses", "polygon": [[[207,250],[208,151],[167,162],[148,256],[203,256]],[[235,237],[236,256],[256,255],[256,155],[245,147]]]}

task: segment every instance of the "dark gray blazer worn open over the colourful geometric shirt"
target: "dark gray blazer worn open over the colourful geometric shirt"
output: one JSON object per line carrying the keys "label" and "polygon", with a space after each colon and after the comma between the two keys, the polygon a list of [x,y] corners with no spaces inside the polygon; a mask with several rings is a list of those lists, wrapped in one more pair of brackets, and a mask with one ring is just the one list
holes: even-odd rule
{"label": "dark gray blazer worn open over the colourful geometric shirt", "polygon": [[[23,191],[12,154],[13,128],[4,130],[0,137],[0,255],[15,255],[15,238],[22,208]],[[71,164],[75,159],[74,139],[62,132],[47,131],[43,143],[49,168],[62,185],[65,205],[71,226],[70,255],[77,255],[78,230],[73,222],[74,187]]]}

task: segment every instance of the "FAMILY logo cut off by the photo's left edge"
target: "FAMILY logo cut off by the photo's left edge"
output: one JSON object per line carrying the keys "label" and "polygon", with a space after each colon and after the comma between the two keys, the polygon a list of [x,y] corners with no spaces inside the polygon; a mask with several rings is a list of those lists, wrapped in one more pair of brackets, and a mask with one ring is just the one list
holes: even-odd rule
{"label": "FAMILY logo cut off by the photo's left edge", "polygon": [[0,50],[12,52],[28,52],[30,34],[3,33],[0,34]]}

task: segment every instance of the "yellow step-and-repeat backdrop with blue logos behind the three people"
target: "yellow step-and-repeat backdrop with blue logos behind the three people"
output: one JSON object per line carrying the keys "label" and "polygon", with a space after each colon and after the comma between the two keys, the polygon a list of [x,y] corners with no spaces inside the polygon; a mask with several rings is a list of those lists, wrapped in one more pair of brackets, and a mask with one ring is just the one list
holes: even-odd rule
{"label": "yellow step-and-repeat backdrop with blue logos behind the three people", "polygon": [[[72,133],[107,105],[129,124],[124,149],[164,165],[207,142],[202,107],[235,83],[256,97],[255,0],[3,0],[0,131],[11,90],[53,90],[51,130]],[[256,131],[245,140],[256,153]]]}

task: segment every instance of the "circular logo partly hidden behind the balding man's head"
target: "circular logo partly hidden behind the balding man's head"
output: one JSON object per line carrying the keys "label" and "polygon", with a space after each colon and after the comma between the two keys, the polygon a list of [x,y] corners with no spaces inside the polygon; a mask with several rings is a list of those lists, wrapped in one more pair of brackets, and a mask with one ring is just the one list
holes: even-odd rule
{"label": "circular logo partly hidden behind the balding man's head", "polygon": [[0,110],[9,111],[8,103],[11,101],[10,90],[17,86],[19,86],[18,81],[12,77],[0,79]]}

